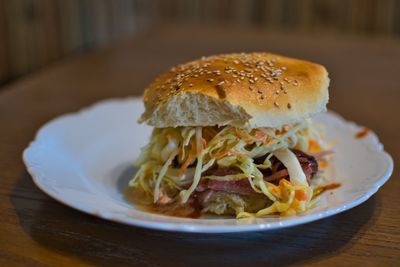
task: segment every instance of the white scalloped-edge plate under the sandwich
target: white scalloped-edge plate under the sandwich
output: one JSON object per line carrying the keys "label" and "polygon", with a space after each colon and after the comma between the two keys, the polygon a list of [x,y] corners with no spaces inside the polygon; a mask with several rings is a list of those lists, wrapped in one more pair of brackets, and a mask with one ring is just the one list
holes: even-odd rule
{"label": "white scalloped-edge plate under the sandwich", "polygon": [[324,122],[328,138],[337,141],[329,173],[342,186],[323,194],[306,214],[240,220],[151,214],[124,197],[134,172],[131,163],[151,132],[136,122],[142,110],[140,99],[109,100],[47,123],[24,151],[36,185],[61,203],[107,220],[160,230],[222,233],[289,227],[343,212],[366,201],[393,170],[392,158],[374,133],[355,139],[361,127],[329,112],[315,120]]}

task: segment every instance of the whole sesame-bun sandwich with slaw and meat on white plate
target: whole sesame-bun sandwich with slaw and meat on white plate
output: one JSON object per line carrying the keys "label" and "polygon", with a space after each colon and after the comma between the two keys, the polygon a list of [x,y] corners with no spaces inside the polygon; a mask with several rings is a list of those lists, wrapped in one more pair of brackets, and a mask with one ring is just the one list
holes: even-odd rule
{"label": "whole sesame-bun sandwich with slaw and meat on white plate", "polygon": [[129,190],[174,216],[307,211],[328,149],[310,118],[326,110],[328,86],[323,66],[271,53],[173,67],[144,92],[139,122],[154,130]]}

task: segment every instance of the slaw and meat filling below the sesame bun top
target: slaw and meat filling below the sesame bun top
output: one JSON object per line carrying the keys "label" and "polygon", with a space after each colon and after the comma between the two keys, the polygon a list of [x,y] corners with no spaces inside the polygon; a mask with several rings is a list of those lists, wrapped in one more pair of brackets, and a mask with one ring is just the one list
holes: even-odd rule
{"label": "slaw and meat filling below the sesame bun top", "polygon": [[326,149],[309,119],[279,128],[155,128],[129,185],[166,210],[294,215],[315,204],[311,179]]}

